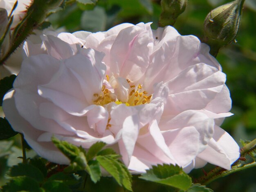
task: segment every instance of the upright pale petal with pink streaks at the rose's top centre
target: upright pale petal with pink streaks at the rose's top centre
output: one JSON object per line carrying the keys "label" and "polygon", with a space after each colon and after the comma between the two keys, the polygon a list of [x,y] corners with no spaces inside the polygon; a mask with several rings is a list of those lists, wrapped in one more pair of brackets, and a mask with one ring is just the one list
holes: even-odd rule
{"label": "upright pale petal with pink streaks at the rose's top centre", "polygon": [[110,51],[110,71],[132,82],[143,78],[153,49],[152,33],[146,26],[121,30]]}

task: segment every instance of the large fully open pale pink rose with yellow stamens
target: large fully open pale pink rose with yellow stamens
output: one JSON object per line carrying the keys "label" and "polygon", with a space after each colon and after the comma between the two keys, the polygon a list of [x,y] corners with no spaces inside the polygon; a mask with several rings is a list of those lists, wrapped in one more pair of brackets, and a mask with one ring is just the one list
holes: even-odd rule
{"label": "large fully open pale pink rose with yellow stamens", "polygon": [[85,149],[106,142],[139,173],[162,163],[230,169],[238,159],[219,127],[231,115],[226,76],[195,36],[139,23],[41,38],[25,42],[27,58],[3,103],[40,156],[69,163],[54,135]]}

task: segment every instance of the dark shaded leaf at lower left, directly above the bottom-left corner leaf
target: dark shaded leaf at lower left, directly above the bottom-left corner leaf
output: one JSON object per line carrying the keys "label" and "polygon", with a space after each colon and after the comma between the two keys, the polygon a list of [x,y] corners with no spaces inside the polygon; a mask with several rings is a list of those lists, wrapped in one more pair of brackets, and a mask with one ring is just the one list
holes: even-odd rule
{"label": "dark shaded leaf at lower left, directly above the bottom-left corner leaf", "polygon": [[9,172],[9,176],[28,176],[35,179],[38,182],[43,182],[44,175],[43,173],[33,165],[19,163],[18,165],[14,165],[11,167]]}

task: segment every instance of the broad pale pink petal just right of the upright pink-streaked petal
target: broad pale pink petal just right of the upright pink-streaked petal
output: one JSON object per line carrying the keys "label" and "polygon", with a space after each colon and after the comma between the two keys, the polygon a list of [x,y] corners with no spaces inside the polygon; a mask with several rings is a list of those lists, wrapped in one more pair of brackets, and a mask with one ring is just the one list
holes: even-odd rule
{"label": "broad pale pink petal just right of the upright pink-streaked petal", "polygon": [[195,36],[177,36],[163,42],[150,56],[144,86],[149,92],[155,83],[173,79],[182,70],[193,65],[190,60],[200,50],[200,41]]}

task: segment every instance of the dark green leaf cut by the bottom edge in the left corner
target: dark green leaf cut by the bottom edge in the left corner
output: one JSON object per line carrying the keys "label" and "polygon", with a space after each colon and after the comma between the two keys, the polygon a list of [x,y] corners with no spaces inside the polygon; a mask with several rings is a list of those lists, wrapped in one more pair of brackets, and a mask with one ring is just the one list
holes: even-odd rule
{"label": "dark green leaf cut by the bottom edge in the left corner", "polygon": [[16,191],[33,191],[40,192],[39,184],[32,178],[27,176],[14,177],[9,183],[2,187],[3,191],[16,192]]}

